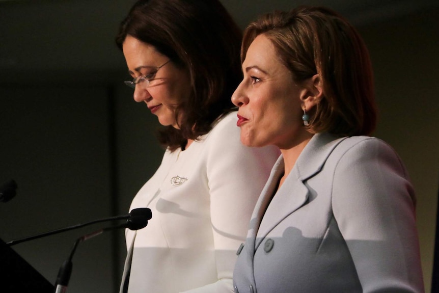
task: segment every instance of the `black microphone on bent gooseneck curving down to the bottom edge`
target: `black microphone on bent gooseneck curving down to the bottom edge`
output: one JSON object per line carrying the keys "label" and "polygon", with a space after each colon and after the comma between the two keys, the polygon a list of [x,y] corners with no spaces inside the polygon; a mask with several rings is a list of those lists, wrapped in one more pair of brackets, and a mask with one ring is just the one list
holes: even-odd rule
{"label": "black microphone on bent gooseneck curving down to the bottom edge", "polygon": [[75,253],[79,243],[91,239],[109,230],[114,230],[119,228],[128,228],[130,230],[142,229],[146,227],[146,225],[148,225],[148,220],[151,219],[151,210],[149,208],[137,208],[137,209],[133,209],[130,212],[130,215],[131,217],[126,221],[125,224],[99,229],[97,231],[94,231],[90,234],[81,236],[76,239],[75,243],[73,244],[72,251],[70,252],[69,258],[67,258],[67,260],[63,262],[58,272],[57,281],[55,283],[55,293],[64,293],[67,290],[67,286],[69,284],[70,276],[73,268],[73,263],[72,263],[73,254]]}

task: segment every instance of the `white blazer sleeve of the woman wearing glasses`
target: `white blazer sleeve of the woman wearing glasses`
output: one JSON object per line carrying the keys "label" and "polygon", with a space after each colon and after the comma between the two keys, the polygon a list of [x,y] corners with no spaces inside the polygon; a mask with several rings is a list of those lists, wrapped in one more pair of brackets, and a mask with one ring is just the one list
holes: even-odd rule
{"label": "white blazer sleeve of the woman wearing glasses", "polygon": [[206,163],[217,281],[187,293],[233,292],[236,251],[244,242],[253,208],[280,155],[272,146],[243,146],[233,114],[218,123],[209,136]]}

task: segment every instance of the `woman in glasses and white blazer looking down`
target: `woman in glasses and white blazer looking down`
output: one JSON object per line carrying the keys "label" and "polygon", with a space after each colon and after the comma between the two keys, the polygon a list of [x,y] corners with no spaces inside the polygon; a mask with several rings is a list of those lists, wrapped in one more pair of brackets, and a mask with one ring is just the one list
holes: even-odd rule
{"label": "woman in glasses and white blazer looking down", "polygon": [[162,163],[131,207],[149,207],[126,232],[121,291],[230,292],[236,249],[279,152],[244,147],[230,101],[241,33],[217,0],[142,0],[117,44],[134,100],[164,126]]}

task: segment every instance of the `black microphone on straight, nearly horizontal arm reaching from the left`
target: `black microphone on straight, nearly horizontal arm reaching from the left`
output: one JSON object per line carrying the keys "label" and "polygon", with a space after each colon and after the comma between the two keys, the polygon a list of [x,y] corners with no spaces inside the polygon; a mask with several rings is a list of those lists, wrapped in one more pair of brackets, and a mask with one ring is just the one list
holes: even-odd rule
{"label": "black microphone on straight, nearly horizontal arm reaching from the left", "polygon": [[[129,228],[131,230],[137,230],[137,229],[141,229],[141,228],[146,226],[146,224],[145,224],[145,226],[140,227],[142,224],[139,224],[139,223],[143,223],[142,221],[146,221],[146,223],[148,223],[148,220],[150,220],[151,218],[152,218],[151,210],[147,207],[140,207],[140,208],[135,208],[135,209],[131,210],[130,213],[127,215],[103,218],[103,219],[94,220],[94,221],[83,223],[83,224],[77,224],[77,225],[70,226],[70,227],[65,227],[65,228],[61,228],[61,229],[57,229],[57,230],[53,230],[53,231],[48,231],[48,232],[44,232],[41,234],[37,234],[37,235],[33,235],[33,236],[21,238],[21,239],[16,239],[16,240],[7,242],[6,244],[9,246],[13,246],[13,245],[25,242],[25,241],[30,241],[33,239],[37,239],[37,238],[41,238],[41,237],[45,237],[45,236],[49,236],[49,235],[53,235],[53,234],[58,234],[58,233],[73,230],[73,229],[82,228],[82,227],[96,224],[96,223],[100,223],[100,222],[108,222],[108,221],[114,221],[114,220],[127,219],[127,222],[124,225],[120,226],[120,228],[122,228],[123,226],[126,226],[126,228]],[[138,225],[140,228],[135,229],[136,225]]]}

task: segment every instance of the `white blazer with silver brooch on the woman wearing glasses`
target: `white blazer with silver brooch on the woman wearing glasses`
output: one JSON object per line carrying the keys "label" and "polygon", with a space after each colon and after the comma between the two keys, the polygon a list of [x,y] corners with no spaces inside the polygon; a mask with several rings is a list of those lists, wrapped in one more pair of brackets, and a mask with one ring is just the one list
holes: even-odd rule
{"label": "white blazer with silver brooch on the woman wearing glasses", "polygon": [[186,150],[166,151],[134,197],[130,209],[149,207],[152,219],[126,231],[128,292],[233,292],[236,248],[280,154],[244,147],[236,121],[233,112]]}

